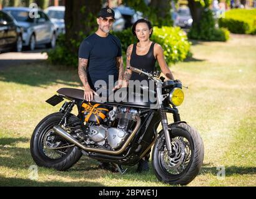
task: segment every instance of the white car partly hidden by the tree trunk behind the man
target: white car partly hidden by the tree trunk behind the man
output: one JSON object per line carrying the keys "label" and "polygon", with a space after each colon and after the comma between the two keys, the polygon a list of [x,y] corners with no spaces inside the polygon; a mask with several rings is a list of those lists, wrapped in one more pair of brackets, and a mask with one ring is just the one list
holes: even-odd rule
{"label": "white car partly hidden by the tree trunk behind the man", "polygon": [[45,12],[51,19],[51,22],[56,26],[57,35],[65,34],[65,6],[50,6],[47,7]]}

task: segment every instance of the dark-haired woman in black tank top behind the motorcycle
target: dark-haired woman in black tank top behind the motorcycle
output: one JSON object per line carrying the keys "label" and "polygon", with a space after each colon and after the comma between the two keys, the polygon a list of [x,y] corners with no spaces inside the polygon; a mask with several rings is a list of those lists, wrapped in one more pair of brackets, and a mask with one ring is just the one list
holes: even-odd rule
{"label": "dark-haired woman in black tank top behind the motorcycle", "polygon": [[[164,50],[159,44],[156,44],[150,40],[152,32],[152,25],[149,21],[139,19],[134,23],[132,26],[132,34],[137,37],[139,42],[137,42],[137,44],[131,44],[127,48],[126,66],[143,69],[145,72],[154,72],[155,62],[157,61],[165,77],[170,80],[174,80],[174,76],[172,75],[172,72],[170,72],[167,63],[165,62]],[[126,69],[126,72],[124,73],[124,87],[128,86],[129,80],[146,80],[149,82],[146,76],[141,76],[129,69]],[[140,160],[137,169],[139,172],[149,170],[149,165],[147,163],[149,160],[149,152]]]}

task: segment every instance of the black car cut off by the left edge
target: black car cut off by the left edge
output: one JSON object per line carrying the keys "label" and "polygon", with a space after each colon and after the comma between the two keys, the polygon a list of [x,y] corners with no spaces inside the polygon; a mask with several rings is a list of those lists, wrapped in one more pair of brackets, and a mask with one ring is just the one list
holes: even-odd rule
{"label": "black car cut off by the left edge", "polygon": [[22,50],[22,29],[15,19],[4,11],[0,11],[0,52],[6,50]]}

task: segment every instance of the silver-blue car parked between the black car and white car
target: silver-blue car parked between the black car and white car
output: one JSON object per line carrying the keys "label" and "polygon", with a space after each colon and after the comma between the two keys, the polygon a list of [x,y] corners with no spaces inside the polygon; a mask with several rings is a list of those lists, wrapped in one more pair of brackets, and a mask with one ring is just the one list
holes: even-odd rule
{"label": "silver-blue car parked between the black car and white car", "polygon": [[3,10],[11,14],[17,24],[22,27],[24,46],[29,47],[30,50],[34,50],[37,44],[55,47],[56,27],[41,9],[37,9],[37,16],[36,12],[29,7],[4,7]]}

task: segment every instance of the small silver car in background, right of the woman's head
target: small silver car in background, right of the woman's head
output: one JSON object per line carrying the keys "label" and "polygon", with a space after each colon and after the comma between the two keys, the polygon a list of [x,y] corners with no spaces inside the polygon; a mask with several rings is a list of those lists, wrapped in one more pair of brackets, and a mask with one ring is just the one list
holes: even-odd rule
{"label": "small silver car in background, right of the woman's head", "polygon": [[174,25],[179,27],[189,28],[192,26],[192,16],[189,7],[180,7],[175,14]]}

